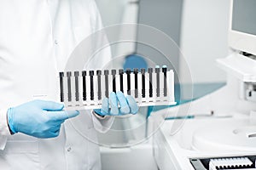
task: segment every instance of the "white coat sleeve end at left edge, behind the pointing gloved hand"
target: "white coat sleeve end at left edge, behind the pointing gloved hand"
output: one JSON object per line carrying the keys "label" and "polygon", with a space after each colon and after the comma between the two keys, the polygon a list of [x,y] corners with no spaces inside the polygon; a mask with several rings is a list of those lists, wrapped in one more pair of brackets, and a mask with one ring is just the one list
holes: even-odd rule
{"label": "white coat sleeve end at left edge, behind the pointing gloved hand", "polygon": [[10,135],[6,113],[7,109],[0,110],[0,150],[4,150],[7,137]]}

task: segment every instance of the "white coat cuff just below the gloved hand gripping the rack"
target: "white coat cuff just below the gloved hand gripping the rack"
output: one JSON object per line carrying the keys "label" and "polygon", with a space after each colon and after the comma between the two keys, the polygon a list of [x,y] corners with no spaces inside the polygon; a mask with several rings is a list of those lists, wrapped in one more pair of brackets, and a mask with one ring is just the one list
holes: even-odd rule
{"label": "white coat cuff just below the gloved hand gripping the rack", "polygon": [[100,133],[107,133],[113,124],[113,116],[99,117],[92,111],[92,121],[96,130]]}

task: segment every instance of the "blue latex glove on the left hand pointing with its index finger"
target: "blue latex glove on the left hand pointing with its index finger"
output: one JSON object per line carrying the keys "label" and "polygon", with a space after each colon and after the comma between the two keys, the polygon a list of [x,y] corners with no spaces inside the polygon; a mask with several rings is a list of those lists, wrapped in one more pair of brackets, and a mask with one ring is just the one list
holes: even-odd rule
{"label": "blue latex glove on the left hand pointing with its index finger", "polygon": [[79,115],[79,111],[63,111],[63,108],[62,104],[44,100],[33,100],[9,108],[9,128],[13,133],[25,133],[42,139],[57,137],[61,123]]}

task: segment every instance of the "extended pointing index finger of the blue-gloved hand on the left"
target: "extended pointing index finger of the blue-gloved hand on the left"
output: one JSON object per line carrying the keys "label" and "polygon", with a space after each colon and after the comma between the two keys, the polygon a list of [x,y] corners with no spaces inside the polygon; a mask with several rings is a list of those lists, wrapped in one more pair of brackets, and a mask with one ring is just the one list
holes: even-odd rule
{"label": "extended pointing index finger of the blue-gloved hand on the left", "polygon": [[79,111],[48,111],[50,116],[55,121],[66,120],[79,115]]}

